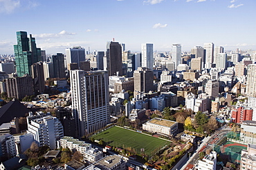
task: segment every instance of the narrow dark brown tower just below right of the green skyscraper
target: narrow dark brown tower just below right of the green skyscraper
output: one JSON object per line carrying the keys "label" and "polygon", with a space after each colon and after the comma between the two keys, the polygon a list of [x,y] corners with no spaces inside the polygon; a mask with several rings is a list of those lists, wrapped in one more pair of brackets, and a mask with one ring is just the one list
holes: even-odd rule
{"label": "narrow dark brown tower just below right of the green skyscraper", "polygon": [[34,84],[34,92],[35,94],[44,93],[45,81],[44,81],[44,65],[43,62],[40,61],[38,63],[34,63],[32,66],[32,78]]}

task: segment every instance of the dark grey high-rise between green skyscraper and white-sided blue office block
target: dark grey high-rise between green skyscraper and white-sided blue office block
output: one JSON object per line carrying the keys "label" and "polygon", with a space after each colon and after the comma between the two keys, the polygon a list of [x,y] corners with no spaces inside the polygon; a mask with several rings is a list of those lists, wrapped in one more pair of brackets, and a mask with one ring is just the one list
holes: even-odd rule
{"label": "dark grey high-rise between green skyscraper and white-sided blue office block", "polygon": [[52,56],[53,59],[53,77],[54,78],[65,78],[65,67],[64,67],[64,54],[57,53]]}

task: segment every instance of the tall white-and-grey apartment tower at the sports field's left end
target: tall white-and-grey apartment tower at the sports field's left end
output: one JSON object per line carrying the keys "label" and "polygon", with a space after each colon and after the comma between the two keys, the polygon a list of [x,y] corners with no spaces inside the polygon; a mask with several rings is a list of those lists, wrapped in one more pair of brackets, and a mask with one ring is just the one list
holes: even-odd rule
{"label": "tall white-and-grey apartment tower at the sports field's left end", "polygon": [[78,136],[90,134],[110,121],[109,82],[104,71],[71,70],[73,117]]}

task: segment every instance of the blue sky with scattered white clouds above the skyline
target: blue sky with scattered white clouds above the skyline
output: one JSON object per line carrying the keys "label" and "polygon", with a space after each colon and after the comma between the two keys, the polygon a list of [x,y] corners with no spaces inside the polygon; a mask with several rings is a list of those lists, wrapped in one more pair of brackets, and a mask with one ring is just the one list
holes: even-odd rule
{"label": "blue sky with scattered white clouds above the skyline", "polygon": [[0,54],[13,54],[16,32],[36,37],[47,54],[80,45],[102,51],[107,41],[140,51],[141,43],[188,51],[212,42],[256,50],[255,0],[0,0]]}

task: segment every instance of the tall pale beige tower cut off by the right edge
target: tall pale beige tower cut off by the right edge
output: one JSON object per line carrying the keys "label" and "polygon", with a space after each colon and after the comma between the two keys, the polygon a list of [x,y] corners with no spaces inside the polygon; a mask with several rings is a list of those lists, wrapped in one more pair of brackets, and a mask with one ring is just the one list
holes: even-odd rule
{"label": "tall pale beige tower cut off by the right edge", "polygon": [[248,97],[256,97],[256,64],[247,66],[246,94]]}

